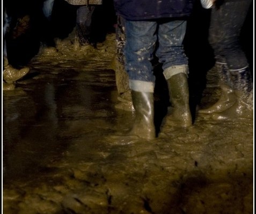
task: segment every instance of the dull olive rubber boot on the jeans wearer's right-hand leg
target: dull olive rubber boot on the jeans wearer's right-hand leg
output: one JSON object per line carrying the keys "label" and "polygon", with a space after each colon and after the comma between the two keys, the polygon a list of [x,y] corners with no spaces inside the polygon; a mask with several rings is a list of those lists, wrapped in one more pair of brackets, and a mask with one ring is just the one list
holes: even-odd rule
{"label": "dull olive rubber boot on the jeans wearer's right-hand leg", "polygon": [[165,118],[166,125],[189,127],[192,125],[191,111],[189,109],[189,90],[187,75],[178,73],[167,80],[171,111]]}

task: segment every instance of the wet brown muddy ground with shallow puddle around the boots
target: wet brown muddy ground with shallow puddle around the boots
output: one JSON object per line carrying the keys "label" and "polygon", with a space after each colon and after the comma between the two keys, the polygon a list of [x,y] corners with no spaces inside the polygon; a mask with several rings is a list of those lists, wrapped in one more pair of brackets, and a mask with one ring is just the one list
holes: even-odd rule
{"label": "wet brown muddy ground with shallow puddle around the boots", "polygon": [[[42,47],[3,91],[4,213],[253,212],[253,118],[196,114],[152,141],[125,136],[134,112],[115,108],[115,35],[75,48]],[[206,88],[198,107],[218,95]]]}

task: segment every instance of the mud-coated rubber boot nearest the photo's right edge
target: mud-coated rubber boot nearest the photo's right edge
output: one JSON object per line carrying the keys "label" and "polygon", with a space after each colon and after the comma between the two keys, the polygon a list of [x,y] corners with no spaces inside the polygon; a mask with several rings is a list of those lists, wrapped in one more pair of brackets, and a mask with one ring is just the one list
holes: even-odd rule
{"label": "mud-coated rubber boot nearest the photo's right edge", "polygon": [[253,118],[253,83],[248,67],[240,70],[229,70],[236,102],[230,108],[220,113],[212,114],[215,120],[233,118]]}

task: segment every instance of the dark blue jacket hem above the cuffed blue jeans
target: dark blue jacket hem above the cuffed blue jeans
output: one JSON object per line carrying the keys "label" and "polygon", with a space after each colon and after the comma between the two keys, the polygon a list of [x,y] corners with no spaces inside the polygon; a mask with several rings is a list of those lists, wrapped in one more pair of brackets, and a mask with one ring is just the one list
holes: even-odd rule
{"label": "dark blue jacket hem above the cuffed blue jeans", "polygon": [[114,0],[116,12],[128,20],[179,18],[191,14],[194,0]]}

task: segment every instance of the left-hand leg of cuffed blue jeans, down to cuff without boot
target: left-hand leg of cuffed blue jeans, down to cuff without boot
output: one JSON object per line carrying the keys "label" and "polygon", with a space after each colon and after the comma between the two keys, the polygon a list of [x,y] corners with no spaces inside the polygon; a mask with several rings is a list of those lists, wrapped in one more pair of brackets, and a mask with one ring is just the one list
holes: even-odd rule
{"label": "left-hand leg of cuffed blue jeans, down to cuff without boot", "polygon": [[153,92],[155,75],[151,60],[157,35],[155,21],[126,20],[126,71],[131,90]]}

